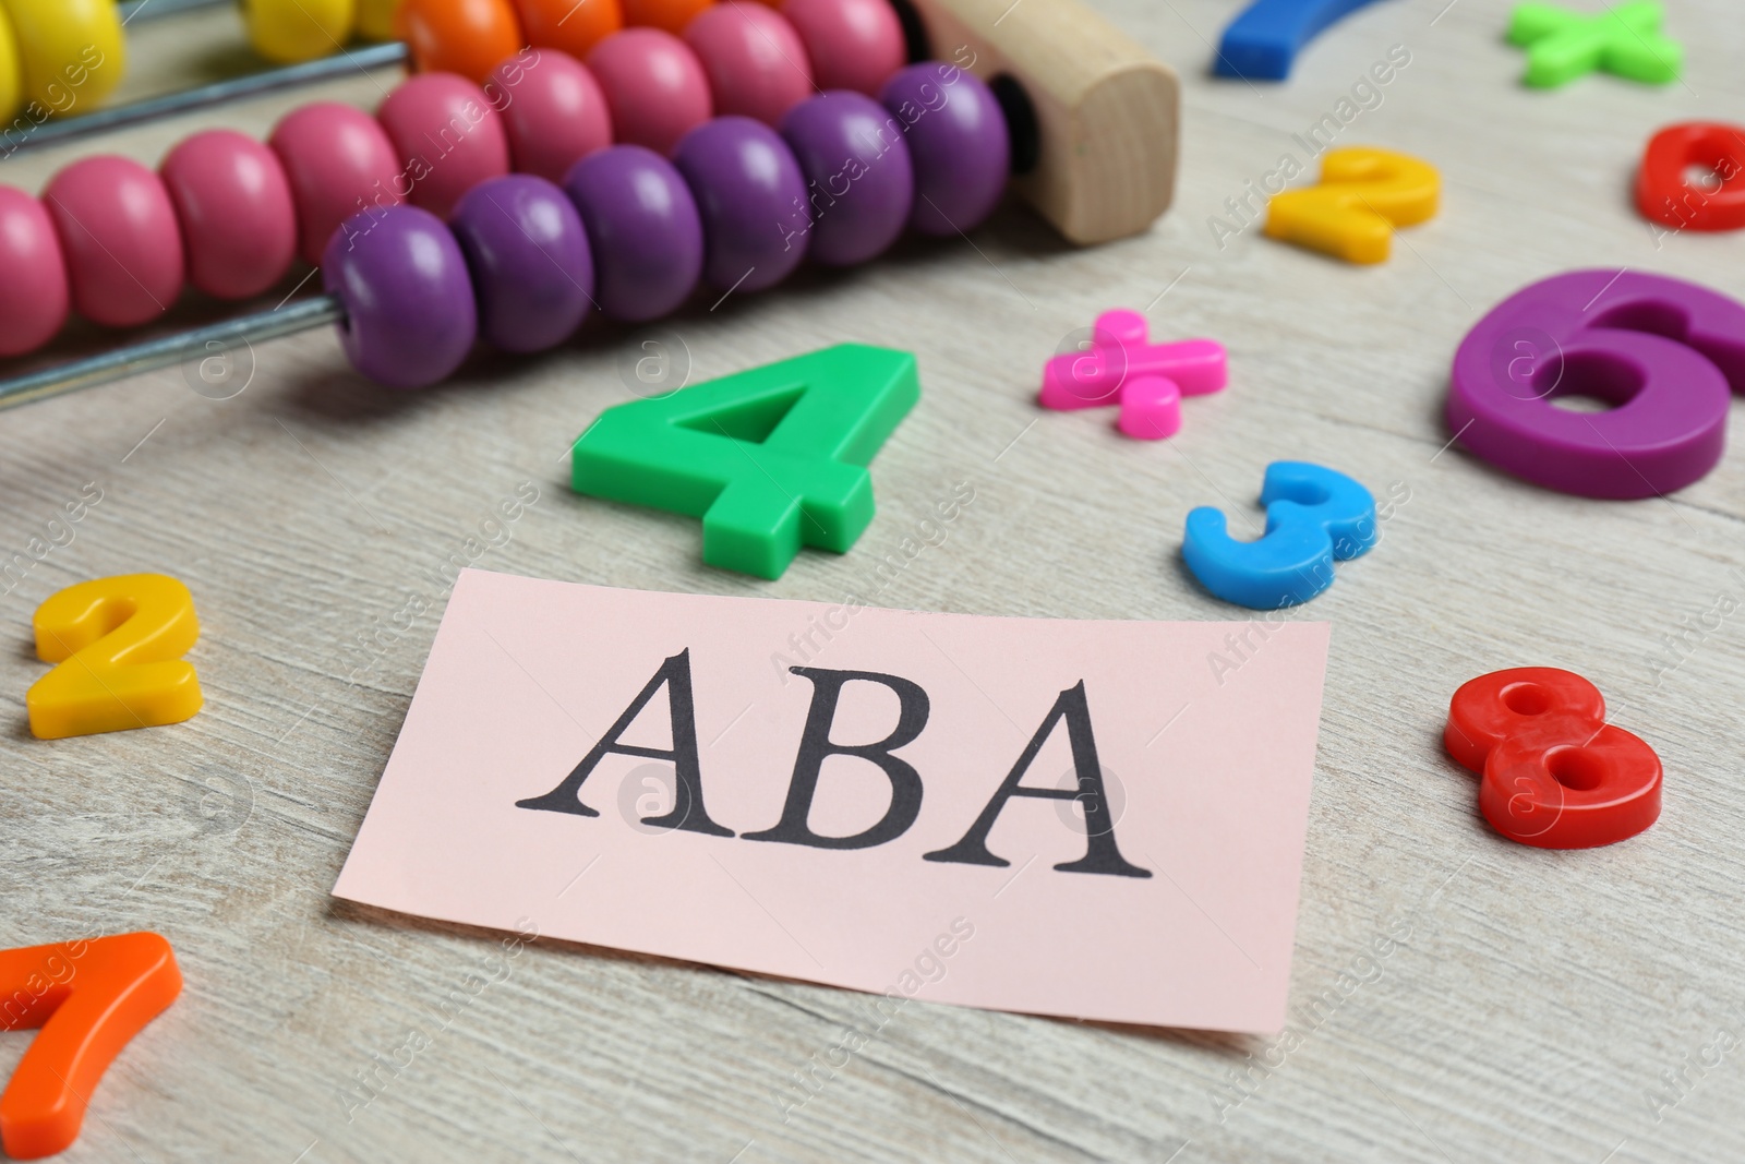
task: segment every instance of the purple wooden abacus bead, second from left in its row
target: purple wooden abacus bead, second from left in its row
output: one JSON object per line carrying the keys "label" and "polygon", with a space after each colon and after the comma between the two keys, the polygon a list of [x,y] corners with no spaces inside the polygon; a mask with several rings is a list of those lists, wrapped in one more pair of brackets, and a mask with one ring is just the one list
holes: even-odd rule
{"label": "purple wooden abacus bead, second from left in its row", "polygon": [[593,305],[593,255],[576,204],[544,178],[504,175],[448,220],[478,291],[478,332],[503,351],[562,344]]}

